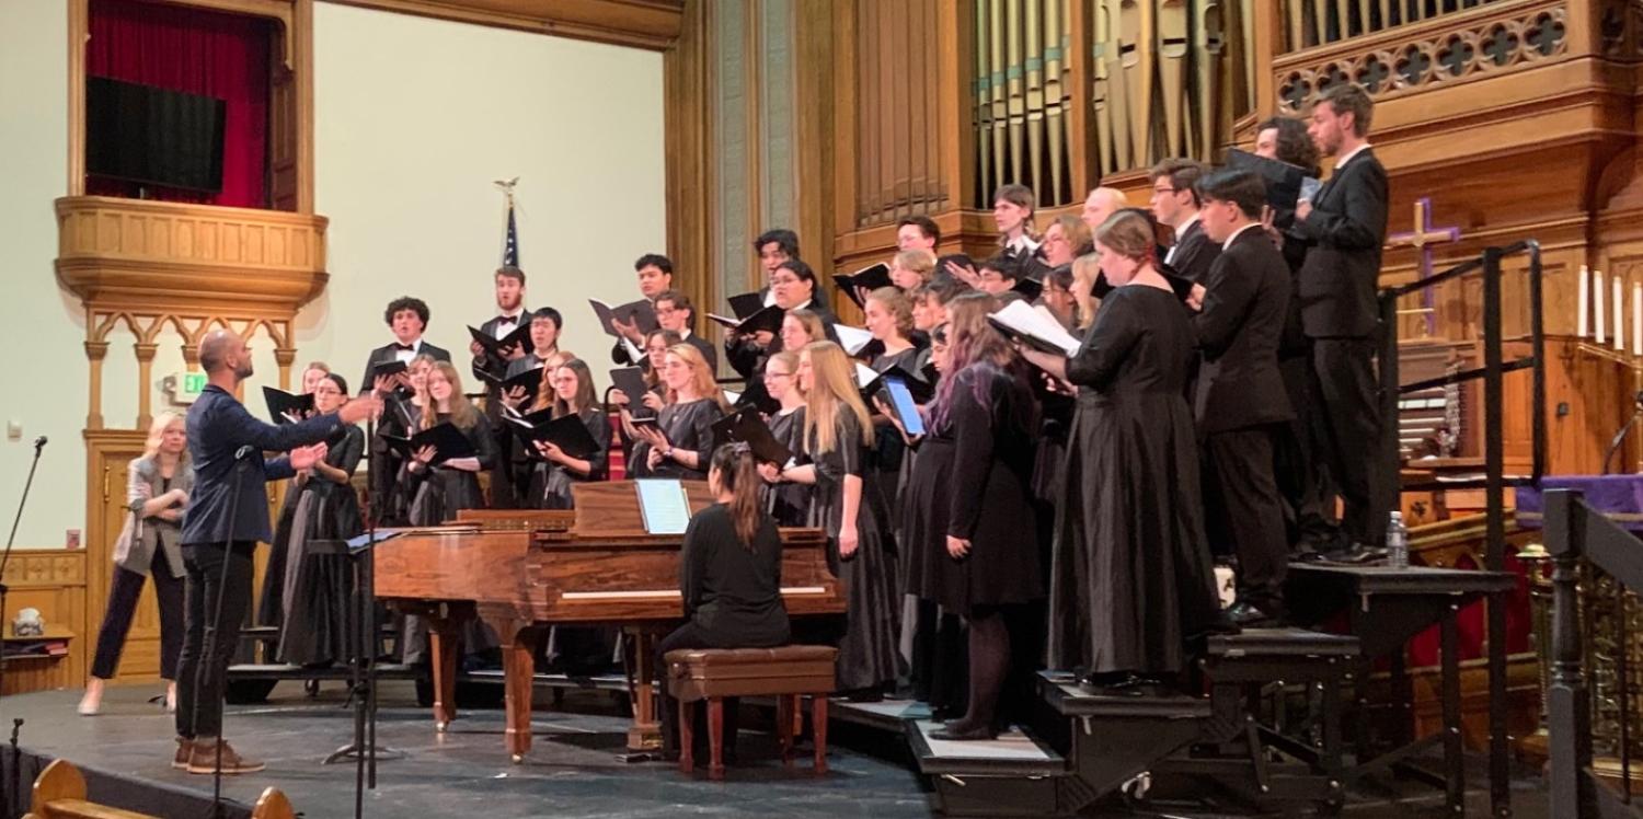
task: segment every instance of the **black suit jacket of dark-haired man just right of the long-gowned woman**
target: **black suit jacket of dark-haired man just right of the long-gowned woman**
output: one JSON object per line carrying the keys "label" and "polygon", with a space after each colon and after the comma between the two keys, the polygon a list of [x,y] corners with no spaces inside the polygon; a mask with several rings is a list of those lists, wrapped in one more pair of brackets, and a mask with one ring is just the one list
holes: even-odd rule
{"label": "black suit jacket of dark-haired man just right of the long-gowned woman", "polygon": [[1295,419],[1278,374],[1278,338],[1288,317],[1290,268],[1254,226],[1216,258],[1204,284],[1204,310],[1193,318],[1198,371],[1193,414],[1199,433]]}

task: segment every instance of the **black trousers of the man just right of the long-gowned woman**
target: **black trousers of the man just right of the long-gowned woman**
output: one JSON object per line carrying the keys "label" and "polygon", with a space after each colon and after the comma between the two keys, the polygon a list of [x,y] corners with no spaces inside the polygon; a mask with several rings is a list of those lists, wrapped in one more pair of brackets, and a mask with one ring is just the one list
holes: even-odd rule
{"label": "black trousers of the man just right of the long-gowned woman", "polygon": [[1213,432],[1199,448],[1204,530],[1211,543],[1237,555],[1239,597],[1262,607],[1283,601],[1290,565],[1283,497],[1272,466],[1275,430]]}

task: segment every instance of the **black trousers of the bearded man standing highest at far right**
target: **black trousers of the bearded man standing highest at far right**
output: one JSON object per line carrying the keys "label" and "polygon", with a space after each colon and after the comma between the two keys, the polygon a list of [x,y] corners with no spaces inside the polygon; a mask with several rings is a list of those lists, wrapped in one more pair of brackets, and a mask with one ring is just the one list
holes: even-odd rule
{"label": "black trousers of the bearded man standing highest at far right", "polygon": [[1314,338],[1313,386],[1319,412],[1313,414],[1318,456],[1329,469],[1331,494],[1339,494],[1341,528],[1352,542],[1378,545],[1377,468],[1380,404],[1375,396],[1375,341],[1370,338]]}

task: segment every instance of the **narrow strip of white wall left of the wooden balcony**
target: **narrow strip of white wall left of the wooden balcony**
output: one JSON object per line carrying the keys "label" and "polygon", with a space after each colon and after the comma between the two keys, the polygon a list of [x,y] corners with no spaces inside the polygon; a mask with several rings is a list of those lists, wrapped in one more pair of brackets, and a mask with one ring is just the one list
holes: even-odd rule
{"label": "narrow strip of white wall left of the wooden balcony", "polygon": [[[16,532],[61,547],[85,517],[85,338],[79,299],[58,287],[58,218],[67,192],[69,11],[64,0],[0,2],[0,545],[12,530],[35,437],[39,461]],[[127,355],[130,346],[127,346]],[[110,355],[113,351],[110,350]],[[135,404],[135,400],[133,400]],[[13,440],[7,425],[21,425]]]}

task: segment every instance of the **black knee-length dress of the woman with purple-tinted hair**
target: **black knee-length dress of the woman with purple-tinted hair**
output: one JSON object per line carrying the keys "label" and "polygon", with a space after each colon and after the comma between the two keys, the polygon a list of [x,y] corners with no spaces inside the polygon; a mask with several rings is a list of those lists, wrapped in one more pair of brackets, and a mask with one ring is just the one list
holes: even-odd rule
{"label": "black knee-length dress of the woman with purple-tinted hair", "polygon": [[[1037,412],[1019,373],[979,363],[953,379],[941,420],[953,435],[951,479],[935,499],[948,504],[946,530],[925,533],[925,548],[938,551],[925,583],[943,609],[969,615],[1043,597],[1032,510]],[[969,556],[953,560],[948,537],[969,540]]]}

